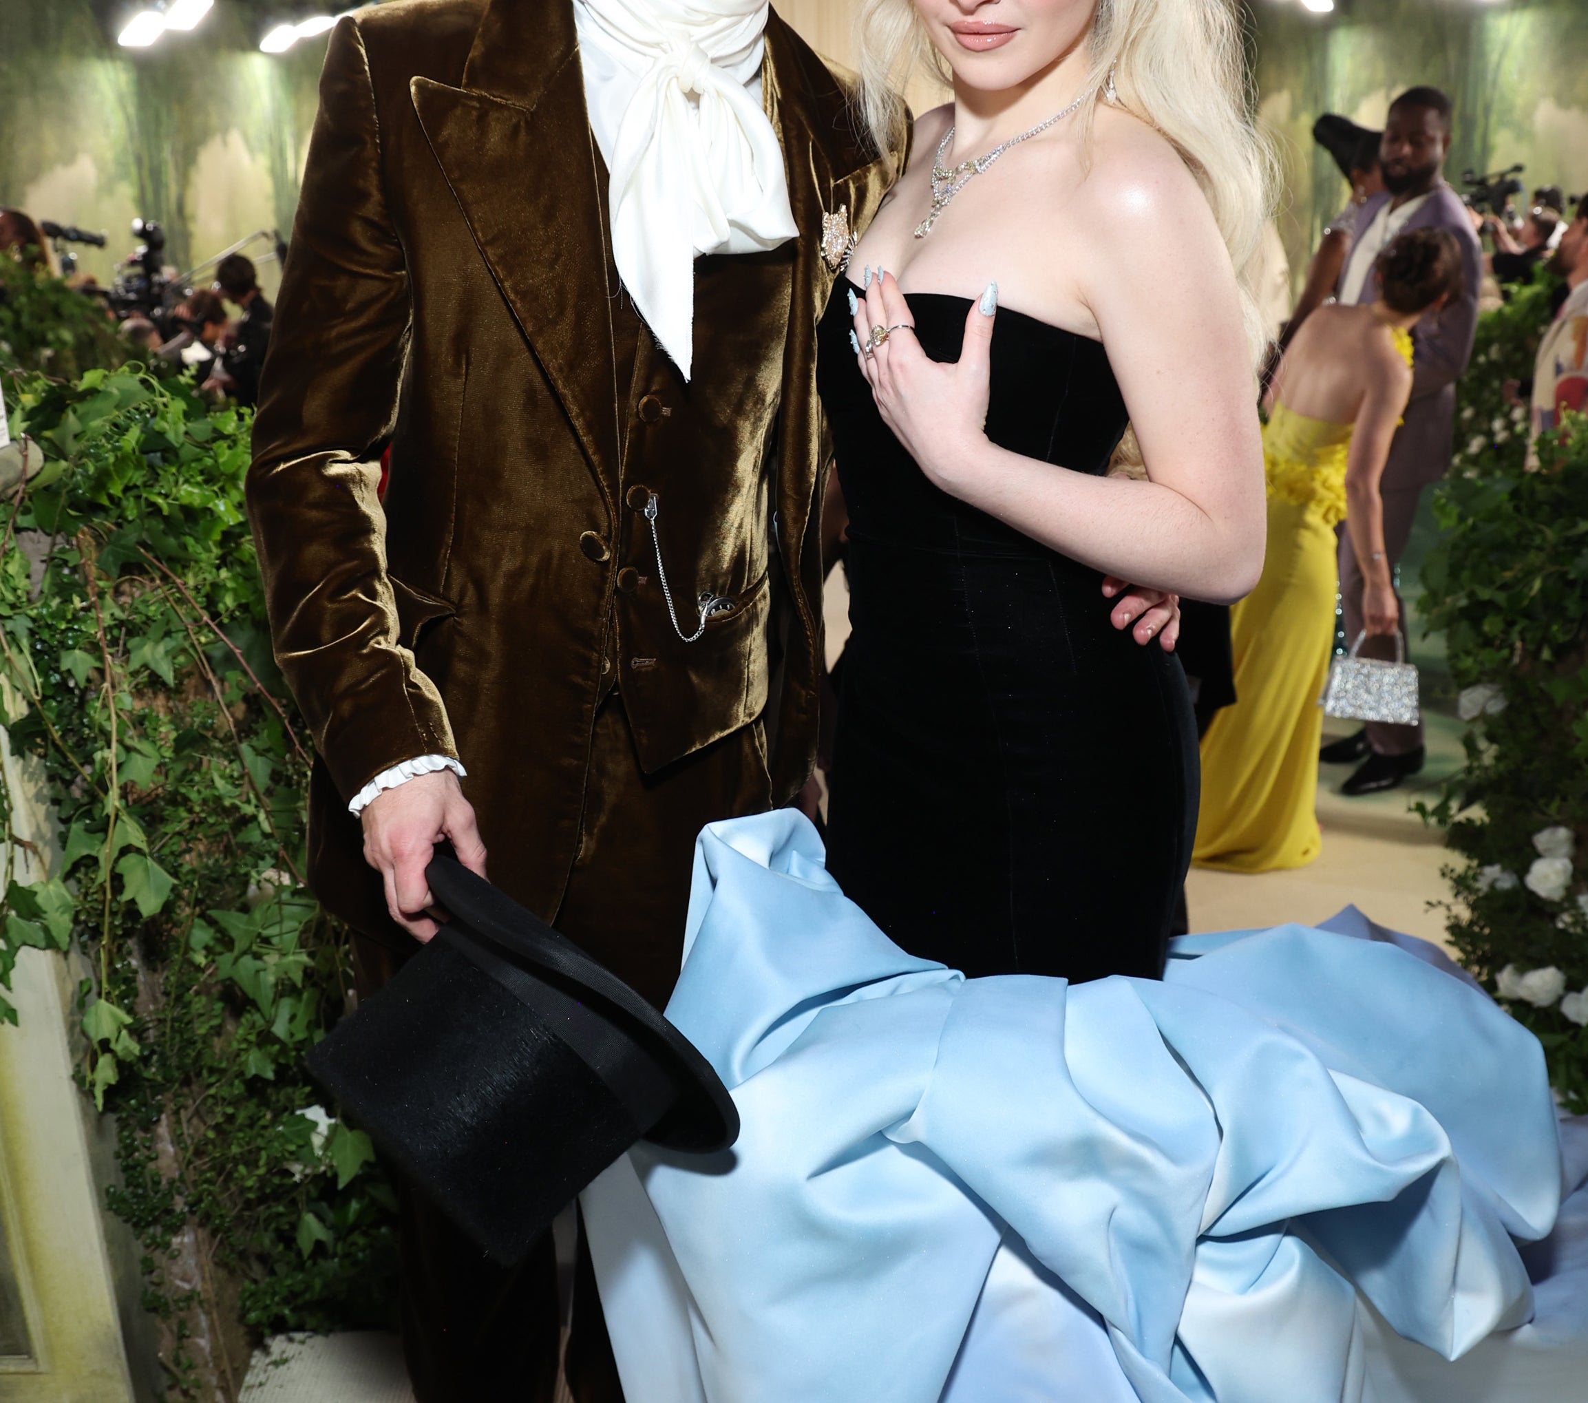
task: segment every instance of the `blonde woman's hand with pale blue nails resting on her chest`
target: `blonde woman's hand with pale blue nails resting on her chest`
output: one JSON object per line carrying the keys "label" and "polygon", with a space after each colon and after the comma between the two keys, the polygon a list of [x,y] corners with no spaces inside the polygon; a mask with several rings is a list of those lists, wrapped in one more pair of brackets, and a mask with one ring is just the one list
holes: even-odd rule
{"label": "blonde woman's hand with pale blue nails resting on her chest", "polygon": [[[870,275],[870,270],[867,270]],[[966,318],[966,340],[954,364],[932,361],[915,338],[915,318],[892,273],[870,275],[865,296],[850,292],[854,354],[883,423],[937,486],[954,493],[956,475],[986,442],[988,346],[997,284],[989,283]],[[870,348],[873,327],[888,338]],[[958,493],[956,493],[958,496]]]}

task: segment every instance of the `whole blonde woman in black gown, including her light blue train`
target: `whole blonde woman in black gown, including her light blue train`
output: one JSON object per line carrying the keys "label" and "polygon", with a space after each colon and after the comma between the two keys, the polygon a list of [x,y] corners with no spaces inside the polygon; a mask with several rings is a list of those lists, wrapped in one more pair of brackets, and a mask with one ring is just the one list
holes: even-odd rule
{"label": "whole blonde woman in black gown, including her light blue train", "polygon": [[[1297,926],[1193,937],[1159,980],[1189,704],[1169,655],[1094,618],[1110,572],[1234,599],[1262,561],[1237,273],[1262,162],[1229,13],[916,6],[881,17],[919,25],[954,103],[921,119],[818,364],[858,562],[845,666],[880,715],[856,721],[846,678],[842,871],[792,810],[697,842],[667,1015],[742,1131],[707,1163],[637,1147],[581,1198],[622,1386],[1405,1397],[1358,1293],[1431,1360],[1534,1309],[1509,1235],[1547,1233],[1563,1182],[1537,1041],[1431,949]],[[1126,416],[1145,481],[1104,475]],[[1148,977],[1007,977],[1110,968]],[[1575,1339],[1544,1303],[1531,1338]],[[1440,1397],[1488,1397],[1482,1359]]]}

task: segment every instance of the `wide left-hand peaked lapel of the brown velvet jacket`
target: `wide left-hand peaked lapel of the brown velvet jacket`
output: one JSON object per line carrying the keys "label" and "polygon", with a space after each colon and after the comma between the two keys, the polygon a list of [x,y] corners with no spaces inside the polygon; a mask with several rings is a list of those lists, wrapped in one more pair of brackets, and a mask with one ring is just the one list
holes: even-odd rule
{"label": "wide left-hand peaked lapel of the brown velvet jacket", "polygon": [[491,0],[462,86],[414,78],[410,91],[480,254],[611,504],[621,408],[572,5]]}

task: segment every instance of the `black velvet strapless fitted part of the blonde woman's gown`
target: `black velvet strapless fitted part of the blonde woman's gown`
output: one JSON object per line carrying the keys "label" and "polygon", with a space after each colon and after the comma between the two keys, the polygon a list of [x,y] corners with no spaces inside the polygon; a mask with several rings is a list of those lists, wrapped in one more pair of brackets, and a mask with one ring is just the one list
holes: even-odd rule
{"label": "black velvet strapless fitted part of the blonde woman's gown", "polygon": [[[1158,977],[1196,836],[1185,672],[1113,628],[1097,570],[932,486],[854,364],[846,286],[816,369],[853,623],[829,868],[899,945],[969,976]],[[956,361],[969,300],[908,302]],[[1126,418],[1100,343],[997,313],[994,443],[1102,473]]]}

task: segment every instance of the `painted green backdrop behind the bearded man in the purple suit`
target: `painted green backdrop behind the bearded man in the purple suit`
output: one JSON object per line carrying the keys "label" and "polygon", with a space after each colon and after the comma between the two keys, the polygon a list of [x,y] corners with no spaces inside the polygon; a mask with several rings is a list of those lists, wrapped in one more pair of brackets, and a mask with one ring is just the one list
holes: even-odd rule
{"label": "painted green backdrop behind the bearded man in the purple suit", "polygon": [[1526,164],[1528,187],[1588,189],[1588,27],[1582,0],[1251,0],[1258,94],[1280,141],[1280,234],[1299,283],[1323,226],[1348,195],[1312,140],[1320,113],[1382,127],[1390,100],[1431,83],[1456,103],[1447,173]]}

